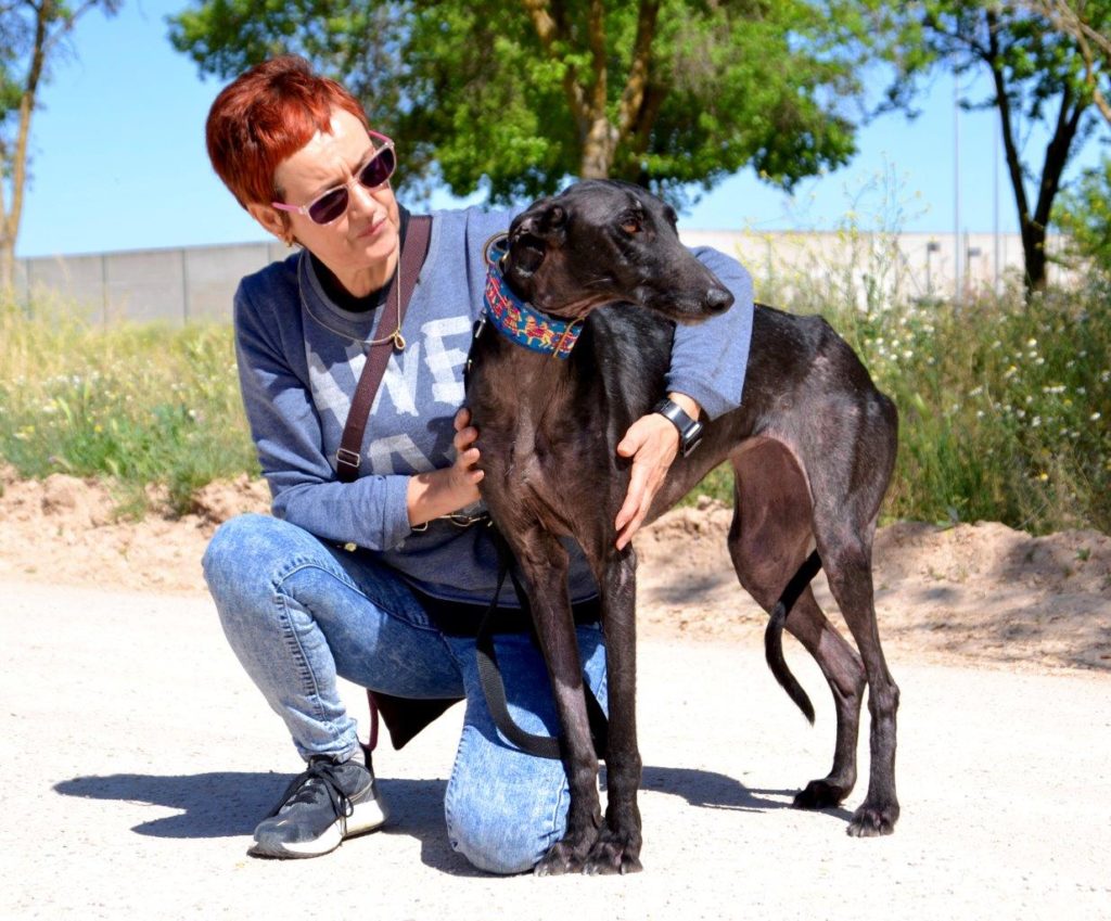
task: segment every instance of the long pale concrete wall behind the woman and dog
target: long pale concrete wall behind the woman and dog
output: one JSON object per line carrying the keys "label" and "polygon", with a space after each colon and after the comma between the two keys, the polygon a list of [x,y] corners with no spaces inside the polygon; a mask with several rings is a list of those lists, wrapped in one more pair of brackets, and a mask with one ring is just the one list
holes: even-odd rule
{"label": "long pale concrete wall behind the woman and dog", "polygon": [[[1018,234],[958,240],[931,233],[683,231],[681,237],[689,246],[711,246],[740,259],[755,277],[761,298],[803,283],[823,286],[820,290],[842,300],[877,293],[960,298],[999,290],[1009,274],[1022,271]],[[58,300],[103,323],[227,322],[239,280],[289,252],[274,241],[21,259],[17,291],[29,309],[43,299]],[[1065,280],[1059,268],[1051,271],[1053,281]]]}

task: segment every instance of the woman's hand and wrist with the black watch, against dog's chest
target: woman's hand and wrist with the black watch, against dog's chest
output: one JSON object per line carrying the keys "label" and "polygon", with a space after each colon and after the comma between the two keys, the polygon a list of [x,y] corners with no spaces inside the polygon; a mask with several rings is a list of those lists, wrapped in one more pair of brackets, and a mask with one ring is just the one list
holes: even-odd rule
{"label": "woman's hand and wrist with the black watch, against dog's chest", "polygon": [[[701,409],[690,397],[685,393],[668,396],[688,416],[698,419]],[[644,523],[644,518],[652,508],[652,500],[663,485],[668,470],[679,453],[679,430],[657,412],[642,416],[629,427],[625,437],[618,444],[618,453],[623,458],[632,458],[629,491],[615,521],[617,547],[618,550],[623,550]]]}

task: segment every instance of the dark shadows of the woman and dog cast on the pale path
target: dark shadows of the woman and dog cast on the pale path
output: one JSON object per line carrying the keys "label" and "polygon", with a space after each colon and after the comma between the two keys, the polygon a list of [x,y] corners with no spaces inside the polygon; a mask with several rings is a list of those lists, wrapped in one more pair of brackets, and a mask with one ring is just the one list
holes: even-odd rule
{"label": "dark shadows of the woman and dog cast on the pale path", "polygon": [[[248,771],[202,774],[109,774],[78,777],[54,785],[58,793],[96,800],[140,802],[174,810],[141,822],[131,830],[153,838],[250,837],[256,824],[277,803],[290,775]],[[448,844],[444,830],[443,780],[379,780],[389,804],[390,822],[380,833],[404,834],[421,842],[421,860],[456,875],[480,875]],[[704,809],[764,812],[790,807],[791,790],[750,790],[738,780],[713,771],[645,767],[642,789],[682,797]],[[772,799],[778,798],[778,799]],[[825,810],[850,815],[845,810]]]}

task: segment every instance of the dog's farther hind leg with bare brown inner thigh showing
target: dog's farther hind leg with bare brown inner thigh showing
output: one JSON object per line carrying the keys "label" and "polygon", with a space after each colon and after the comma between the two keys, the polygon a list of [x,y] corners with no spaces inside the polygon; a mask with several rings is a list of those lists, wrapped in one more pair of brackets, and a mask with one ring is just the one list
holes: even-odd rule
{"label": "dog's farther hind leg with bare brown inner thigh showing", "polygon": [[[812,540],[809,491],[793,457],[775,441],[749,447],[733,459],[733,469],[730,555],[741,584],[770,612]],[[833,695],[833,767],[825,778],[810,781],[794,798],[800,809],[823,809],[840,803],[857,782],[864,669],[809,588],[792,607],[785,627],[818,662]]]}

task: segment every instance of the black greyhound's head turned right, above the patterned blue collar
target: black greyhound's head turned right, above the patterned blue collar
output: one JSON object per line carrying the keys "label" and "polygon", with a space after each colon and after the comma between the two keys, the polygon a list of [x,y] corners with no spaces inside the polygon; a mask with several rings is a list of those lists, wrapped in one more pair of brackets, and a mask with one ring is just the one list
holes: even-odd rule
{"label": "black greyhound's head turned right, above the patterned blue collar", "polygon": [[568,319],[621,301],[689,323],[733,303],[679,242],[674,210],[611,180],[578,182],[518,214],[502,272],[520,298]]}

